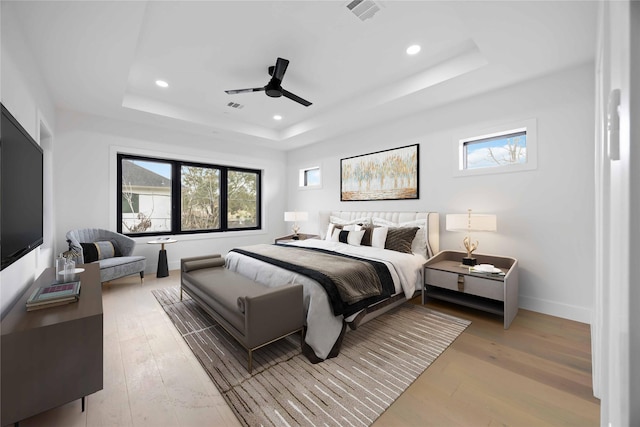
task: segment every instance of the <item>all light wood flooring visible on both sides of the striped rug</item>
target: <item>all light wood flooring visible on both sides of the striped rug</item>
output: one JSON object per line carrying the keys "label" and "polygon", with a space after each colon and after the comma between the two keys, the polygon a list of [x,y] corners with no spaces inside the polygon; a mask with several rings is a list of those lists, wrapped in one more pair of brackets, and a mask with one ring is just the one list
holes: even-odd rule
{"label": "all light wood flooring visible on both sides of the striped rug", "polygon": [[[20,426],[238,426],[151,294],[178,278],[103,286],[104,389],[85,412],[78,400]],[[520,310],[505,331],[496,316],[429,305],[473,323],[376,427],[598,425],[588,325]]]}

